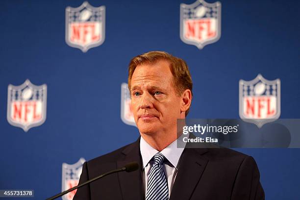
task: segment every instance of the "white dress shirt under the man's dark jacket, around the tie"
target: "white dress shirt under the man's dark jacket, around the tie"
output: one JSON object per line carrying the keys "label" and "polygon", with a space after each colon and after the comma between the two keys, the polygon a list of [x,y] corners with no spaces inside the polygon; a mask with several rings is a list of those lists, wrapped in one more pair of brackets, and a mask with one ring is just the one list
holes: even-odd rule
{"label": "white dress shirt under the man's dark jacket, around the tie", "polygon": [[[144,139],[141,137],[140,140],[140,150],[142,155],[143,161],[143,172],[142,172],[142,179],[144,181],[144,191],[145,195],[147,193],[147,186],[148,186],[148,178],[150,175],[150,169],[153,165],[153,161],[150,161],[151,158],[158,153],[158,150],[153,149]],[[165,157],[166,160],[163,164],[163,171],[166,175],[168,180],[168,188],[169,188],[169,198],[172,191],[172,187],[174,185],[174,181],[177,174],[177,164],[179,162],[179,158],[182,154],[184,148],[177,148],[177,141],[175,140],[171,143],[168,147],[160,151]]]}

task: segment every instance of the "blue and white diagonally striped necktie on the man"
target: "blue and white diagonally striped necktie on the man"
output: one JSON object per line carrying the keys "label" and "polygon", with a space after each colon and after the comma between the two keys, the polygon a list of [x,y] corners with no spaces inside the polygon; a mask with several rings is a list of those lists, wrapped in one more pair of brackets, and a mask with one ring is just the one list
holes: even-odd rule
{"label": "blue and white diagonally striped necktie on the man", "polygon": [[152,159],[154,163],[148,178],[146,200],[169,200],[168,181],[162,169],[163,162],[166,158],[163,154],[158,152]]}

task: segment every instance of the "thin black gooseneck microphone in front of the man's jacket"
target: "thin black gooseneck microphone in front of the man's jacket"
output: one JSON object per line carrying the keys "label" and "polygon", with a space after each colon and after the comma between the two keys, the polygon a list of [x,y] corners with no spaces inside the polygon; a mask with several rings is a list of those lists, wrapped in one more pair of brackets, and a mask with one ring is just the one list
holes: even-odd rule
{"label": "thin black gooseneck microphone in front of the man's jacket", "polygon": [[91,182],[93,182],[93,181],[95,181],[95,180],[97,180],[99,178],[102,178],[102,177],[104,177],[106,175],[110,175],[110,174],[113,174],[113,173],[116,173],[116,172],[122,172],[122,171],[133,172],[133,171],[136,171],[137,169],[139,169],[139,164],[137,162],[127,163],[124,167],[122,167],[120,169],[116,169],[116,170],[112,170],[112,171],[106,172],[106,173],[104,173],[102,175],[99,175],[99,176],[97,176],[97,177],[95,177],[93,179],[90,179],[90,180],[88,180],[88,181],[86,181],[84,183],[81,183],[80,185],[77,185],[77,186],[75,186],[73,188],[70,188],[69,190],[66,190],[66,191],[64,191],[62,193],[59,193],[59,194],[57,194],[57,195],[55,195],[55,196],[53,196],[51,198],[48,198],[47,200],[54,200],[54,199],[56,199],[58,197],[61,197],[61,196],[65,195],[65,194],[67,194],[67,193],[69,193],[69,192],[71,192],[71,191],[73,191],[73,190],[75,190],[77,188],[80,188],[80,187],[82,187],[82,186],[84,186],[84,185],[86,185],[88,183],[91,183]]}

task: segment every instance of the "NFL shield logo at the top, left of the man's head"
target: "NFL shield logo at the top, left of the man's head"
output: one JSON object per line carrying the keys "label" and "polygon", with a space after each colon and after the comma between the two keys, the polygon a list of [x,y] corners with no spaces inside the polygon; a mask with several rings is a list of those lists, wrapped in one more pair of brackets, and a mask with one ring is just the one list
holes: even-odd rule
{"label": "NFL shield logo at the top, left of the man's head", "polygon": [[105,39],[105,6],[93,7],[87,1],[66,8],[66,43],[86,52]]}

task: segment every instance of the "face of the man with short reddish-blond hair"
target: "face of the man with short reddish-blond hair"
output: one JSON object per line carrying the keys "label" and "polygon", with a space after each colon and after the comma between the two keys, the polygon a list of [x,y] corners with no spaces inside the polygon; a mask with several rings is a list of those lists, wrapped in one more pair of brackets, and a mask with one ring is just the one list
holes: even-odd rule
{"label": "face of the man with short reddish-blond hair", "polygon": [[[131,79],[131,109],[141,133],[175,131],[180,118],[180,102],[173,85],[170,63],[138,65]],[[172,132],[173,132],[172,131]]]}

